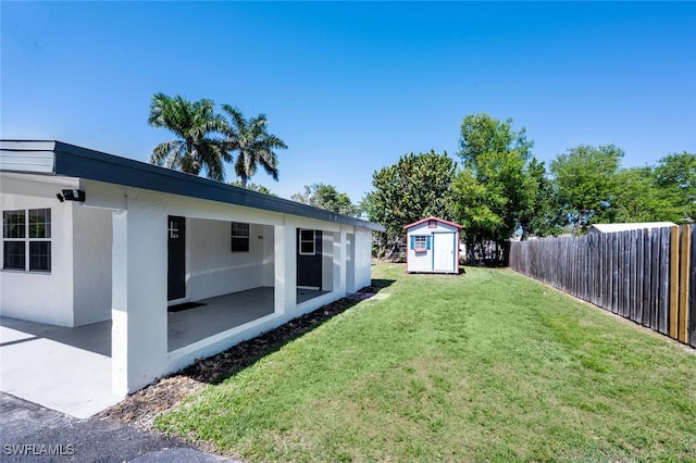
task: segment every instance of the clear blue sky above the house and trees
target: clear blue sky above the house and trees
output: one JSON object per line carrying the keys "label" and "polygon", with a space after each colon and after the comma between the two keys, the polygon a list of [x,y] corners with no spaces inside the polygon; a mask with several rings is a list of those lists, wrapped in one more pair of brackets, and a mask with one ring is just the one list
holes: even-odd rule
{"label": "clear blue sky above the house and trees", "polygon": [[[512,117],[550,162],[696,152],[696,3],[0,3],[0,136],[147,161],[156,92],[263,112],[289,198],[358,201],[408,152],[455,155],[468,114]],[[228,179],[234,179],[232,167]]]}

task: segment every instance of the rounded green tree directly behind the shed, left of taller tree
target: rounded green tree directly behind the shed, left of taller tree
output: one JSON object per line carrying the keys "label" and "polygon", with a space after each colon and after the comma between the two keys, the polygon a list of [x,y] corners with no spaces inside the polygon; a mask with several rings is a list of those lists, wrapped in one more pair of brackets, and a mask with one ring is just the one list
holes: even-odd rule
{"label": "rounded green tree directly behind the shed, left of taller tree", "polygon": [[427,216],[451,220],[451,182],[457,164],[434,150],[410,153],[372,175],[374,190],[362,201],[370,221],[384,225],[380,247],[385,251],[403,236],[403,226]]}

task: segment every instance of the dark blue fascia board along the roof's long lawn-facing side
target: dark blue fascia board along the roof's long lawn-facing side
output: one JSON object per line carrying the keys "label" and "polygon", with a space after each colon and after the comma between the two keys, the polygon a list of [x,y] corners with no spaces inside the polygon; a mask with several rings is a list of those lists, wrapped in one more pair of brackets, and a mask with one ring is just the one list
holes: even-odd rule
{"label": "dark blue fascia board along the roof's long lawn-facing side", "polygon": [[55,175],[299,215],[373,232],[385,230],[384,226],[372,222],[62,141],[55,141],[54,153]]}

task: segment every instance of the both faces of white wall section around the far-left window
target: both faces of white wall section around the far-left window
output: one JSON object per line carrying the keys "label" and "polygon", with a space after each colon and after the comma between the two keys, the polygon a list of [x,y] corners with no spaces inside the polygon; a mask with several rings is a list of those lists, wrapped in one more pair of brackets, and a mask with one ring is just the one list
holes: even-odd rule
{"label": "both faces of white wall section around the far-left window", "polygon": [[51,210],[51,272],[2,271],[0,313],[69,327],[110,320],[111,211],[60,202],[55,193],[77,179],[3,175],[1,184],[3,211]]}

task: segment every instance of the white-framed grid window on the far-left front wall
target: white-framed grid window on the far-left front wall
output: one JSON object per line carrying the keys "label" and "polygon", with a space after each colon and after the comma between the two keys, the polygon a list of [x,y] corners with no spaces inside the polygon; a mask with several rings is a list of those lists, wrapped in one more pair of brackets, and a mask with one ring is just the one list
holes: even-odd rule
{"label": "white-framed grid window on the far-left front wall", "polygon": [[2,211],[2,268],[51,271],[51,210]]}

